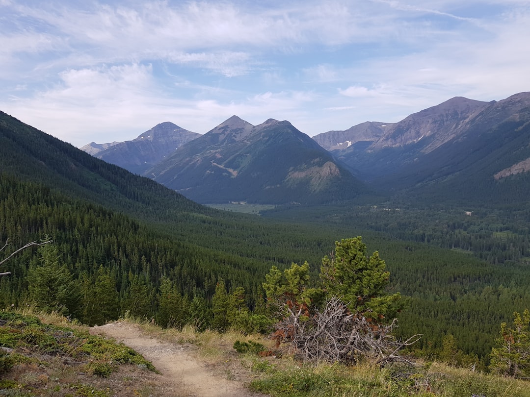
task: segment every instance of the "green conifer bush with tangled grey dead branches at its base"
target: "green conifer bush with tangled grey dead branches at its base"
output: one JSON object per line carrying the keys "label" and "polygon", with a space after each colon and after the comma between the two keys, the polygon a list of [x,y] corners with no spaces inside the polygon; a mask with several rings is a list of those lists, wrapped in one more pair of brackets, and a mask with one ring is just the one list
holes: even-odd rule
{"label": "green conifer bush with tangled grey dead branches at its base", "polygon": [[390,274],[384,261],[377,252],[368,258],[360,237],[337,242],[335,248],[332,259],[323,259],[323,288],[308,287],[307,263],[293,264],[283,274],[273,267],[266,276],[263,287],[278,319],[271,335],[277,348],[284,343],[290,353],[311,362],[404,360],[399,351],[420,336],[401,341],[391,333],[404,304],[399,293],[385,293]]}

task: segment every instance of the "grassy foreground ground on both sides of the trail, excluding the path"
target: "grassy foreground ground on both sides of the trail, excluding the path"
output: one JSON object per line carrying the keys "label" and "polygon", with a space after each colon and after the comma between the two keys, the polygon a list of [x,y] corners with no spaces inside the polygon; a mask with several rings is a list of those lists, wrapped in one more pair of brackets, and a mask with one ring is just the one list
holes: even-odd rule
{"label": "grassy foreground ground on both sides of the trail, excluding the path", "polygon": [[[110,397],[124,395],[117,393],[125,390],[130,391],[126,395],[139,396],[167,393],[159,389],[156,380],[149,380],[149,376],[157,376],[147,369],[150,363],[121,344],[90,336],[80,324],[55,314],[36,317],[12,312],[0,312],[0,323],[0,346],[13,348],[4,355],[9,368],[0,375],[0,395]],[[147,322],[140,327],[150,337],[194,345],[198,358],[216,375],[271,396],[530,397],[530,382],[438,362],[385,368],[369,363],[310,365],[289,355],[259,357],[233,348],[236,341],[270,348],[271,341],[260,335],[196,332],[193,327],[161,329]],[[61,336],[65,333],[67,338]],[[65,358],[70,364],[65,364]],[[139,368],[142,366],[144,369]]]}

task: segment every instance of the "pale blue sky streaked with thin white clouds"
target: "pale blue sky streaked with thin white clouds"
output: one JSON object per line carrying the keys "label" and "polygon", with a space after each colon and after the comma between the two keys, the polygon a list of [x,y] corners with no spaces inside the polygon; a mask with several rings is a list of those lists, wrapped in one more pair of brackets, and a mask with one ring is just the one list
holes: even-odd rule
{"label": "pale blue sky streaked with thin white clouds", "polygon": [[0,0],[0,110],[72,145],[232,115],[314,136],[530,91],[528,0]]}

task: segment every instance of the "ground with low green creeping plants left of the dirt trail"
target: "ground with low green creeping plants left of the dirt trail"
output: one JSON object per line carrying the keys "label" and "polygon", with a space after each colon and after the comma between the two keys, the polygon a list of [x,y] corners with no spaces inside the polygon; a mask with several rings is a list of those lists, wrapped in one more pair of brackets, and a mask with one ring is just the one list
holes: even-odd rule
{"label": "ground with low green creeping plants left of the dirt trail", "polygon": [[[0,311],[0,395],[107,397],[142,390],[154,372],[136,351],[60,315]],[[129,373],[142,381],[123,381]]]}

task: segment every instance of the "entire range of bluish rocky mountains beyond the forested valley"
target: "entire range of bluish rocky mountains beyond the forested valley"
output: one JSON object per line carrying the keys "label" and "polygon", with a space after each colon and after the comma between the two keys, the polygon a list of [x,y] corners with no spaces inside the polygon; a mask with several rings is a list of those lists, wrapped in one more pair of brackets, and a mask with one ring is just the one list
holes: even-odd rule
{"label": "entire range of bluish rocky mountains beyond the forested valley", "polygon": [[[326,203],[374,190],[520,200],[530,170],[529,123],[530,93],[491,102],[454,97],[396,123],[365,122],[313,139],[273,119],[252,125],[232,116],[202,136],[163,123],[94,156],[200,203]],[[188,141],[171,141],[174,131]]]}

